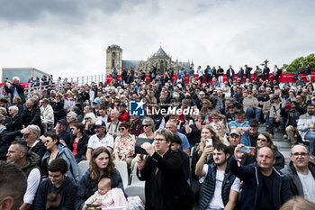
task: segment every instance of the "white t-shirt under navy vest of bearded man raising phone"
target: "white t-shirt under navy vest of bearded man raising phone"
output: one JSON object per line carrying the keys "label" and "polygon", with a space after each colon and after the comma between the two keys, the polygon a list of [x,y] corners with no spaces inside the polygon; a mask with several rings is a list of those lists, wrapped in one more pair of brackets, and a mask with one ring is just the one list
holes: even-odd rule
{"label": "white t-shirt under navy vest of bearded man raising phone", "polygon": [[[205,172],[205,176],[208,174],[208,165],[203,166],[203,170]],[[224,179],[224,173],[223,170],[217,170],[216,174],[216,183],[215,183],[215,190],[214,194],[211,198],[210,204],[208,208],[224,208],[223,200],[222,200],[222,184]],[[232,186],[230,187],[231,190],[237,191],[239,193],[239,186],[240,186],[240,180],[239,178],[235,178]]]}

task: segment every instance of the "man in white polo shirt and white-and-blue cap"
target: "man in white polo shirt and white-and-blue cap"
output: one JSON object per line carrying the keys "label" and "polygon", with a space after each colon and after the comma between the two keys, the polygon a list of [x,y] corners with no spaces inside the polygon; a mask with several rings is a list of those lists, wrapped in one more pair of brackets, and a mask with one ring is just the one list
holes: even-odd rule
{"label": "man in white polo shirt and white-and-blue cap", "polygon": [[92,151],[98,147],[106,147],[111,153],[113,149],[113,137],[106,132],[106,124],[97,120],[94,124],[95,134],[92,135],[87,144],[86,160],[91,160]]}

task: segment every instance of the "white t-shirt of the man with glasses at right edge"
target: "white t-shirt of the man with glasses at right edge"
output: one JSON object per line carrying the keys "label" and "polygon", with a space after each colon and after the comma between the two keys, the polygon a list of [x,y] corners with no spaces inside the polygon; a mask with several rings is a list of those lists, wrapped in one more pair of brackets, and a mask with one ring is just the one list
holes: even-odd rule
{"label": "white t-shirt of the man with glasses at right edge", "polygon": [[311,171],[309,170],[308,174],[297,173],[302,183],[304,198],[315,204],[315,178]]}

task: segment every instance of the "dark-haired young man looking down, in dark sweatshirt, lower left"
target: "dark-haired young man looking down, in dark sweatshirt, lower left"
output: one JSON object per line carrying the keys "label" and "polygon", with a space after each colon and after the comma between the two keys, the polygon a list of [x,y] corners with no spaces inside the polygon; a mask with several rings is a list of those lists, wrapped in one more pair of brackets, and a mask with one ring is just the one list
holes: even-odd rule
{"label": "dark-haired young man looking down, in dark sweatshirt, lower left", "polygon": [[52,160],[48,166],[49,178],[40,183],[36,196],[36,210],[75,209],[76,184],[67,177],[67,161]]}

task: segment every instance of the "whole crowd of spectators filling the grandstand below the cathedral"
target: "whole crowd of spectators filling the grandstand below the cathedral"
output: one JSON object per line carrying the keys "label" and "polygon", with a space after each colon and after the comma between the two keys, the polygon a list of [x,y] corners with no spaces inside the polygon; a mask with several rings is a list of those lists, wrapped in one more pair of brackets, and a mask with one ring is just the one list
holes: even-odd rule
{"label": "whole crowd of spectators filling the grandstand below the cathedral", "polygon": [[[21,210],[128,208],[115,161],[126,161],[130,179],[136,169],[146,181],[146,209],[280,209],[293,196],[315,203],[311,82],[299,77],[293,86],[280,86],[276,73],[269,80],[261,69],[251,81],[251,69],[247,77],[242,68],[234,80],[231,67],[233,77],[223,82],[223,69],[208,66],[198,68],[199,79],[186,84],[179,78],[173,82],[171,69],[165,75],[155,70],[151,82],[134,71],[118,79],[114,69],[110,84],[77,89],[69,83],[60,92],[48,87],[31,96],[24,95],[19,78],[8,80],[7,96],[0,98],[0,170],[14,171],[4,164],[14,162],[27,181],[23,195],[16,196],[21,204],[13,205]],[[140,100],[145,114],[130,116],[130,101]],[[154,114],[162,109],[166,114]],[[287,165],[275,146],[275,132],[293,145]],[[136,152],[138,138],[151,140],[140,146],[147,155]],[[89,168],[80,175],[82,160]],[[0,189],[5,180],[10,178],[0,178]],[[10,203],[0,192],[3,196],[0,209]]]}

